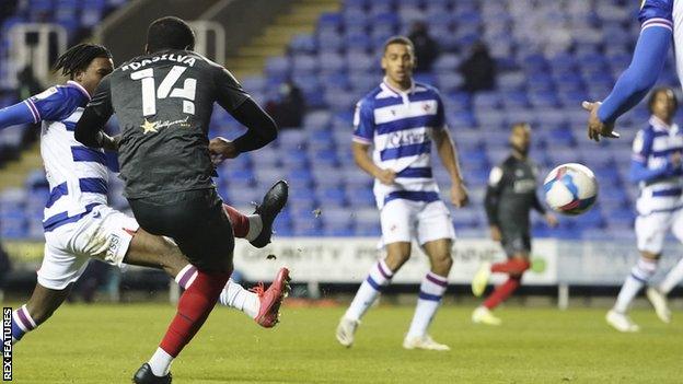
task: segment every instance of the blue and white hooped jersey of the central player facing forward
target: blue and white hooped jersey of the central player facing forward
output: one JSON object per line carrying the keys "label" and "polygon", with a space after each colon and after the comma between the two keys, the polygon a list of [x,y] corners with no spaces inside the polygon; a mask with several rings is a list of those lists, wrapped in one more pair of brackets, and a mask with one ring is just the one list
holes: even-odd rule
{"label": "blue and white hooped jersey of the central player facing forward", "polygon": [[396,172],[391,186],[374,181],[380,209],[393,199],[439,200],[431,170],[431,132],[448,127],[435,88],[414,83],[404,92],[384,80],[356,105],[354,127],[354,141],[374,147],[374,163]]}

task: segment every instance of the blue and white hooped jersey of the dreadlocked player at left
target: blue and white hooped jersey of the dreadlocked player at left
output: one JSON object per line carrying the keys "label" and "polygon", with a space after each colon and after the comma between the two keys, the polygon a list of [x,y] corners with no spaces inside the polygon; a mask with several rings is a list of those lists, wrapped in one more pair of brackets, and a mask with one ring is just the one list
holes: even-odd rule
{"label": "blue and white hooped jersey of the dreadlocked player at left", "polygon": [[44,212],[45,231],[77,221],[92,207],[107,203],[104,151],[83,147],[73,137],[89,101],[88,91],[74,81],[24,101],[34,123],[43,121],[40,154],[50,187]]}

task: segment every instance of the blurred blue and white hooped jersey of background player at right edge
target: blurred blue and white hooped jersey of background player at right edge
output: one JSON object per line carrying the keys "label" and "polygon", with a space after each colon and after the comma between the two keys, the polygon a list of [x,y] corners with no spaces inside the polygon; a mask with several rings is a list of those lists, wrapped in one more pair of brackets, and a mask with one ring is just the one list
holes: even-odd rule
{"label": "blurred blue and white hooped jersey of background player at right edge", "polygon": [[[683,154],[683,131],[652,116],[647,128],[640,129],[633,144],[633,161],[648,170],[665,167],[674,153]],[[671,211],[683,203],[683,171],[648,182],[640,182],[637,210],[640,214]]]}

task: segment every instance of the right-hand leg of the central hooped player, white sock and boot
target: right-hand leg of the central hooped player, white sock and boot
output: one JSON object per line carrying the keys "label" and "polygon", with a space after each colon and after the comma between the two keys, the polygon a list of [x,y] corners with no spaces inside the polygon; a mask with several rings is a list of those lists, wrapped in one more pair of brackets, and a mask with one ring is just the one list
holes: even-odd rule
{"label": "right-hand leg of the central hooped player, white sock and boot", "polygon": [[443,238],[427,242],[424,244],[424,248],[429,255],[431,271],[425,276],[420,283],[415,315],[410,322],[408,334],[403,340],[403,348],[448,351],[451,348],[435,341],[427,334],[427,328],[437,314],[441,299],[448,288],[448,275],[453,265],[451,241]]}

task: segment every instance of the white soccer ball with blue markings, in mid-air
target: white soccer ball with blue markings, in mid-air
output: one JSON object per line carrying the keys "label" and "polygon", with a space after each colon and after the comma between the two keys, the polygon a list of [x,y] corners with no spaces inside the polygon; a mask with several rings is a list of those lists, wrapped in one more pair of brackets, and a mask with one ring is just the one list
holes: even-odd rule
{"label": "white soccer ball with blue markings, in mid-air", "polygon": [[563,214],[581,214],[588,211],[598,198],[598,181],[586,165],[563,164],[551,171],[543,182],[545,201]]}

